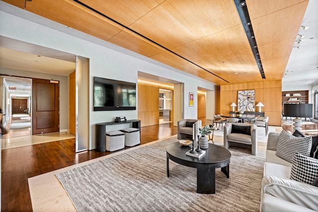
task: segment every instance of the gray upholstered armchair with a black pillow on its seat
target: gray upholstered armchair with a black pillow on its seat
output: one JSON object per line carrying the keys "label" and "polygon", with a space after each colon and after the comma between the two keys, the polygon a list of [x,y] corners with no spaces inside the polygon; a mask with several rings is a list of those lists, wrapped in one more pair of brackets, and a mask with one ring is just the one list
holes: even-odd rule
{"label": "gray upholstered armchair with a black pillow on its seat", "polygon": [[249,148],[253,155],[257,154],[256,125],[244,123],[227,123],[224,126],[224,148],[239,146]]}

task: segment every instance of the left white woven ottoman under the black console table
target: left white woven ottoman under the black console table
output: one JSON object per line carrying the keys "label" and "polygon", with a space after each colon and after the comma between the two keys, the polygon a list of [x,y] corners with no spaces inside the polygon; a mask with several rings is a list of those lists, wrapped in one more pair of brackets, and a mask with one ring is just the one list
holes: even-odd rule
{"label": "left white woven ottoman under the black console table", "polygon": [[106,150],[116,151],[125,147],[125,134],[120,131],[106,132]]}

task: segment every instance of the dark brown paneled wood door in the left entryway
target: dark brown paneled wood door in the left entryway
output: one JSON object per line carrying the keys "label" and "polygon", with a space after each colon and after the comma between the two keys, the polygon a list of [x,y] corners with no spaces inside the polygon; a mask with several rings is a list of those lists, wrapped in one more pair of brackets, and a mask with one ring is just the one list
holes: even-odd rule
{"label": "dark brown paneled wood door in the left entryway", "polygon": [[33,78],[32,135],[60,131],[60,87],[48,79]]}

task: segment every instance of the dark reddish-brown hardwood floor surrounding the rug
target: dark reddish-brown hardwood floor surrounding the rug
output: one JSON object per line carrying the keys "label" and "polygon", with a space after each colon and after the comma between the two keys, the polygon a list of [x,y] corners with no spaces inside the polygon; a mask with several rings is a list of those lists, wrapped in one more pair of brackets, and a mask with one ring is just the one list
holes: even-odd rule
{"label": "dark reddish-brown hardwood floor surrounding the rug", "polygon": [[[212,120],[201,119],[202,124]],[[318,134],[318,124],[303,126]],[[283,125],[283,129],[290,129]],[[292,127],[291,127],[292,128]],[[177,134],[173,123],[141,128],[141,144],[157,141]],[[28,178],[114,152],[83,151],[75,153],[75,139],[53,141],[2,150],[1,158],[1,211],[32,211]],[[121,151],[121,150],[118,150]],[[115,151],[117,152],[117,151]]]}

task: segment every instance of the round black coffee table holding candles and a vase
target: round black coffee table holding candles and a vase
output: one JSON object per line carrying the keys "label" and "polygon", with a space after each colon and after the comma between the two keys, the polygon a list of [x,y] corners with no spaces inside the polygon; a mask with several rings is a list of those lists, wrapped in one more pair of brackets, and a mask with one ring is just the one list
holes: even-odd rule
{"label": "round black coffee table holding candles and a vase", "polygon": [[230,177],[231,152],[212,143],[205,149],[205,155],[200,158],[186,155],[185,152],[191,149],[190,146],[183,146],[179,142],[173,142],[165,147],[166,150],[166,169],[169,177],[169,159],[184,165],[197,169],[197,193],[215,194],[215,169],[221,168],[221,171]]}

